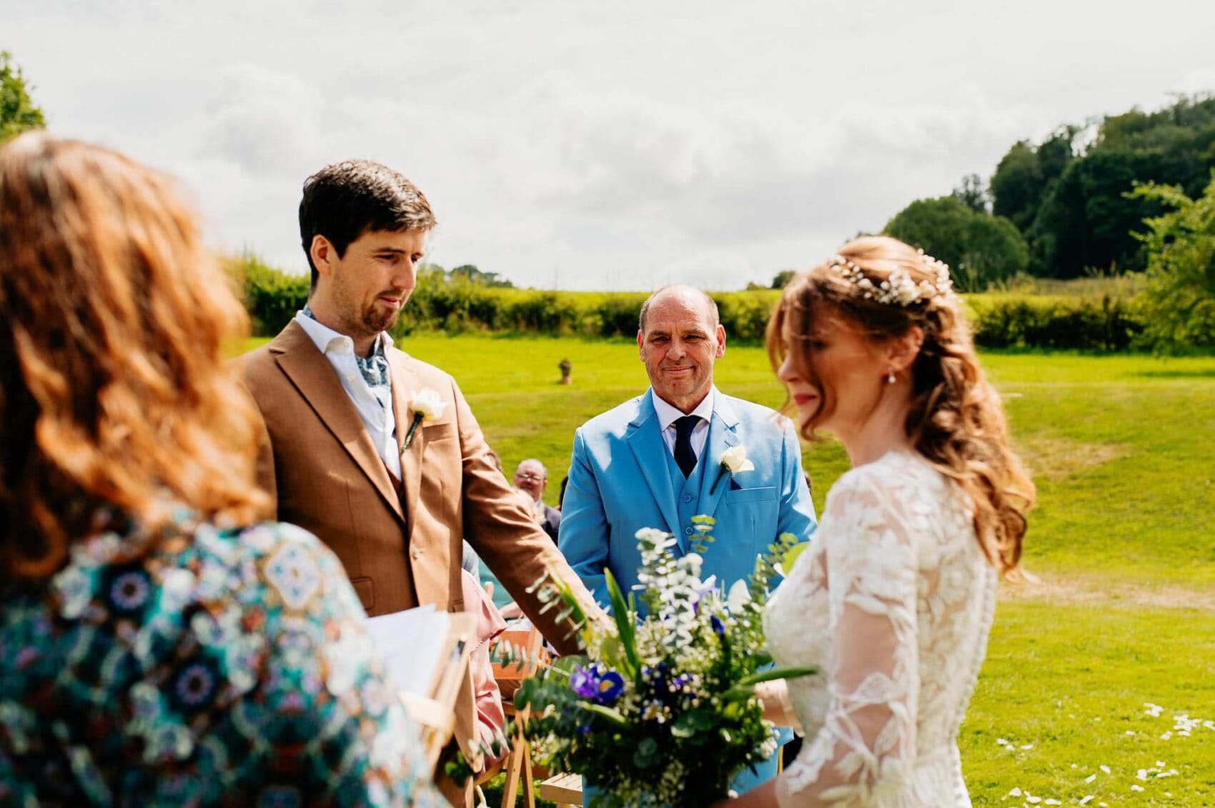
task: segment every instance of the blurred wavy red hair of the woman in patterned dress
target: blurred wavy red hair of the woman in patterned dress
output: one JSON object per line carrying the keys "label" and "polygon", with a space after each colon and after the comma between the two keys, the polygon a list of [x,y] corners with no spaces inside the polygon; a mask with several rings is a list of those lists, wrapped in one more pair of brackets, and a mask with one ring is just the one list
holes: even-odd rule
{"label": "blurred wavy red hair of the woman in patterned dress", "polygon": [[0,581],[56,571],[102,507],[265,512],[222,358],[247,333],[169,179],[45,132],[0,148]]}

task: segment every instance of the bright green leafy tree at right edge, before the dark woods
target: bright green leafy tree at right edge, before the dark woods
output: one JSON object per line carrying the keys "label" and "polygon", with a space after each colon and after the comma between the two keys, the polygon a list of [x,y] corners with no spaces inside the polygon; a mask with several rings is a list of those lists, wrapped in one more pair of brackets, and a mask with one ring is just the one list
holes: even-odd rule
{"label": "bright green leafy tree at right edge, before the dark woods", "polygon": [[1160,185],[1131,196],[1171,208],[1136,235],[1148,256],[1145,341],[1168,351],[1215,348],[1215,174],[1197,199]]}

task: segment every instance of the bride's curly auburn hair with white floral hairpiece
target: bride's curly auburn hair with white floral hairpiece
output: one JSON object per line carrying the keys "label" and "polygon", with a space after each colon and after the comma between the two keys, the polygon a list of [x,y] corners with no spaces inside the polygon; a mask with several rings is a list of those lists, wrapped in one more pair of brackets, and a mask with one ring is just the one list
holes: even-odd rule
{"label": "bride's curly auburn hair with white floral hairpiece", "polygon": [[[984,554],[1005,577],[1017,577],[1034,484],[1008,445],[1000,396],[979,367],[956,295],[927,294],[905,306],[878,301],[872,293],[866,296],[866,287],[857,283],[861,278],[874,284],[870,289],[880,289],[894,272],[905,273],[922,288],[934,288],[938,281],[922,253],[894,238],[858,238],[844,244],[838,256],[860,275],[849,278],[825,262],[795,276],[785,287],[768,322],[773,369],[784,362],[789,339],[793,367],[803,379],[815,378],[808,341],[815,316],[835,315],[875,341],[921,328],[923,344],[910,368],[908,437],[920,454],[970,496]],[[819,420],[815,417],[803,424],[802,436],[814,440]]]}

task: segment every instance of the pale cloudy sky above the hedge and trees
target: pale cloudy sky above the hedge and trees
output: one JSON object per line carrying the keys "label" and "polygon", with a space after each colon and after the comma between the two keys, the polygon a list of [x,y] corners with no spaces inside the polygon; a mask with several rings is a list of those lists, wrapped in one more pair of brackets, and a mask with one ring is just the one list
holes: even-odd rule
{"label": "pale cloudy sky above the hedge and trees", "polygon": [[304,271],[305,176],[386,163],[431,259],[520,286],[767,282],[1011,143],[1215,91],[1211,0],[0,0],[52,129]]}

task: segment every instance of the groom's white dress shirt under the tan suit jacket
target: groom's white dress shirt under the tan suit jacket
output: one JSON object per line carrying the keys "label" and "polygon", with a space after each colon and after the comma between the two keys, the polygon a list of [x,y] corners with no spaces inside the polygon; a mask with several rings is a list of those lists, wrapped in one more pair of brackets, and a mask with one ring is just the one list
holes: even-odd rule
{"label": "groom's white dress shirt under the tan suit jacket", "polygon": [[[358,363],[355,361],[355,340],[312,320],[303,311],[295,315],[295,322],[316,343],[316,349],[324,354],[324,358],[333,366],[334,373],[338,374],[338,382],[350,396],[367,434],[371,435],[372,443],[375,445],[375,452],[384,460],[388,470],[400,480],[401,454],[396,447],[392,386],[373,388],[367,384],[362,371],[358,369]],[[392,338],[380,332],[375,339],[380,340],[386,355],[388,349],[392,346]]]}

